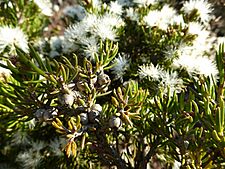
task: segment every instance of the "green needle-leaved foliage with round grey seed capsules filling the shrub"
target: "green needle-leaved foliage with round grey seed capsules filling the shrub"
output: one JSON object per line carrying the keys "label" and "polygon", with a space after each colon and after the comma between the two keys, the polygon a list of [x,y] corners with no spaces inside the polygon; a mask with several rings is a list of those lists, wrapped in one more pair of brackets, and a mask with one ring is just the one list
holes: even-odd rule
{"label": "green needle-leaved foliage with round grey seed capsules filling the shrub", "polygon": [[[110,10],[109,4],[98,9],[93,1],[83,3],[87,13],[101,19]],[[0,168],[3,164],[14,168],[175,168],[175,163],[181,168],[224,168],[224,45],[215,57],[218,79],[212,73],[173,68],[174,59],[179,58],[177,48],[192,47],[197,35],[182,25],[162,30],[144,24],[149,11],[164,5],[134,4],[140,21],[121,14],[127,25],[118,28],[117,41],[96,36],[98,50],[93,58],[85,56],[83,48],[88,45],[78,44],[78,37],[66,39],[75,45],[74,51],[63,53],[64,44],[52,58],[48,57],[50,42],[47,52],[37,45],[49,22],[39,15],[38,6],[33,1],[0,1],[0,25],[18,26],[29,39],[28,52],[17,42],[7,47],[0,43],[0,49],[4,47],[1,61],[5,61],[0,67],[11,72],[0,80]],[[189,24],[199,14],[192,11],[182,16]],[[83,38],[95,36],[93,32],[88,30]],[[8,51],[10,47],[15,47],[14,53]],[[168,48],[176,49],[169,59]],[[122,53],[129,55],[129,62],[118,59]],[[124,63],[129,69],[122,69]],[[143,64],[155,66],[158,72],[141,77]],[[114,78],[115,72],[122,77]]]}

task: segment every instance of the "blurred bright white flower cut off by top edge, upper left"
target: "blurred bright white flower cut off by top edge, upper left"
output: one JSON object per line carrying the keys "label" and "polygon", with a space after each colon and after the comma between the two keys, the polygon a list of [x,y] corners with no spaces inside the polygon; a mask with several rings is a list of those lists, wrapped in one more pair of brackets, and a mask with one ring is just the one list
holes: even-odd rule
{"label": "blurred bright white flower cut off by top edge, upper left", "polygon": [[52,3],[50,0],[34,0],[41,12],[46,16],[52,16]]}

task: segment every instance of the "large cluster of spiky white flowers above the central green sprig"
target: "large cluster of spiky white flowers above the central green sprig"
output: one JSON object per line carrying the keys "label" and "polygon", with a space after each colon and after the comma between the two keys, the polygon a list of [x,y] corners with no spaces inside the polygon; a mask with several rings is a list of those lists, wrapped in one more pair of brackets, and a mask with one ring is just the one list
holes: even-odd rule
{"label": "large cluster of spiky white flowers above the central green sprig", "polygon": [[[98,50],[97,40],[117,40],[117,29],[124,25],[123,20],[119,16],[112,13],[106,13],[103,16],[87,14],[86,17],[73,25],[70,25],[64,32],[65,53],[78,49],[77,45],[85,46],[85,53],[89,57]],[[90,38],[90,36],[92,38]]]}

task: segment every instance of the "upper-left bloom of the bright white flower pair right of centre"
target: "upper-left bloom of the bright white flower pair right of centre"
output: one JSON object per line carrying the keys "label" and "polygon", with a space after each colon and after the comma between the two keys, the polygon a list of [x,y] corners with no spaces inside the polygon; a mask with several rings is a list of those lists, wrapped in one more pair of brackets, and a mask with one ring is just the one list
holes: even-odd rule
{"label": "upper-left bloom of the bright white flower pair right of centre", "polygon": [[151,78],[153,80],[159,80],[163,70],[158,66],[154,66],[152,63],[148,65],[139,66],[138,74],[140,78]]}

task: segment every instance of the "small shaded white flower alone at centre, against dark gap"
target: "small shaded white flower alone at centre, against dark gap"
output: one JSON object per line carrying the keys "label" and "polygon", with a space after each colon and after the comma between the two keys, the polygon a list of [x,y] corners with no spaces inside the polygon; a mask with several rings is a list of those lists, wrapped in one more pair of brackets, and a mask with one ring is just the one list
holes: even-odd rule
{"label": "small shaded white flower alone at centre, against dark gap", "polygon": [[126,54],[122,55],[119,54],[118,58],[114,60],[116,65],[112,68],[112,73],[115,75],[115,79],[120,79],[121,81],[123,81],[123,75],[130,66],[129,57]]}

